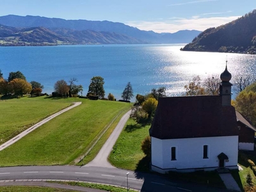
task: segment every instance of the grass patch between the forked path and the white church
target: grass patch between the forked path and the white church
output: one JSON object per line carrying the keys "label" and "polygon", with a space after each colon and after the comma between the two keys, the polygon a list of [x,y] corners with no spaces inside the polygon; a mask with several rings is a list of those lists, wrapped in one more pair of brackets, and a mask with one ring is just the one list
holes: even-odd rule
{"label": "grass patch between the forked path and the white church", "polygon": [[141,151],[141,141],[148,136],[149,128],[150,125],[142,126],[129,119],[109,156],[110,163],[127,170],[147,171],[149,164]]}

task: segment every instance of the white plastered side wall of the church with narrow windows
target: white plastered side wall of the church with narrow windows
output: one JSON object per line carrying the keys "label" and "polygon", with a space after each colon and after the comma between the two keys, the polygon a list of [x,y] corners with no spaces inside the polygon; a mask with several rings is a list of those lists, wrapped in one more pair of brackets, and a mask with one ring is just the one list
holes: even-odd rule
{"label": "white plastered side wall of the church with narrow windows", "polygon": [[[161,169],[218,168],[218,155],[228,156],[225,167],[237,166],[238,136],[159,140],[151,138],[152,166]],[[204,145],[208,145],[208,159],[203,159]],[[176,147],[176,161],[171,161],[171,148]]]}

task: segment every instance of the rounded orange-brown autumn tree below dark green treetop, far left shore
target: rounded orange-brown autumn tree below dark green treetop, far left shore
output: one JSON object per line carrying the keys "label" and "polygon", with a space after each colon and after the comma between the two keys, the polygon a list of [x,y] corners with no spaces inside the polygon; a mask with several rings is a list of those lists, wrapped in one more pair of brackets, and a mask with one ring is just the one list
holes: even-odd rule
{"label": "rounded orange-brown autumn tree below dark green treetop, far left shore", "polygon": [[15,93],[15,95],[23,95],[26,93],[31,93],[32,86],[28,81],[24,79],[13,79],[10,82],[12,86],[12,90]]}

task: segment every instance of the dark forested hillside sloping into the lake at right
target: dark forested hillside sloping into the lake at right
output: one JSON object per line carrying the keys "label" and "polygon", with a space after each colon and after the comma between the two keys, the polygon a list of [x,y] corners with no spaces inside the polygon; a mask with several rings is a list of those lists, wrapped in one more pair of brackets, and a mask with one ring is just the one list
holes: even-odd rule
{"label": "dark forested hillside sloping into the lake at right", "polygon": [[256,54],[256,10],[218,28],[206,29],[182,50]]}

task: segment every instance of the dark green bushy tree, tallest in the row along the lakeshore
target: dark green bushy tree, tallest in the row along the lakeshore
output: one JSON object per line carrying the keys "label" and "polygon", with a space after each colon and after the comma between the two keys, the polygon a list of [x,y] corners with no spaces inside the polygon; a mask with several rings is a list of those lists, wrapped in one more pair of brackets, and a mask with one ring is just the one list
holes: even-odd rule
{"label": "dark green bushy tree, tallest in the row along the lakeshore", "polygon": [[99,95],[100,98],[103,98],[105,95],[105,90],[103,88],[104,79],[100,76],[92,77],[91,83],[89,85],[88,93]]}

